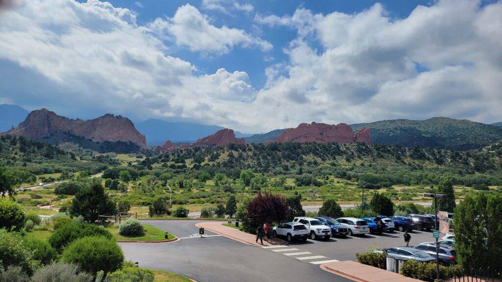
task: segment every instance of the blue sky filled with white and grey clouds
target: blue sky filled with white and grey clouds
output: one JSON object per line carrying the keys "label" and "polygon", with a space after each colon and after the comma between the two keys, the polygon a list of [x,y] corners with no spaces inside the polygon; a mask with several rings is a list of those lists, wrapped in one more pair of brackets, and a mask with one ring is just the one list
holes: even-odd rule
{"label": "blue sky filled with white and grey clouds", "polygon": [[500,1],[12,0],[0,104],[244,133],[502,120]]}

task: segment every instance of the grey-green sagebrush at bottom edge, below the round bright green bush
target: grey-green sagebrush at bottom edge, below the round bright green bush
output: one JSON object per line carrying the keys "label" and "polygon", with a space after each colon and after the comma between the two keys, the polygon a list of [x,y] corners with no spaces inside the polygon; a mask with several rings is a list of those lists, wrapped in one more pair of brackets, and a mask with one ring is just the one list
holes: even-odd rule
{"label": "grey-green sagebrush at bottom edge, below the round bright green bush", "polygon": [[36,282],[92,282],[93,276],[80,270],[74,263],[54,262],[39,268],[33,274]]}

